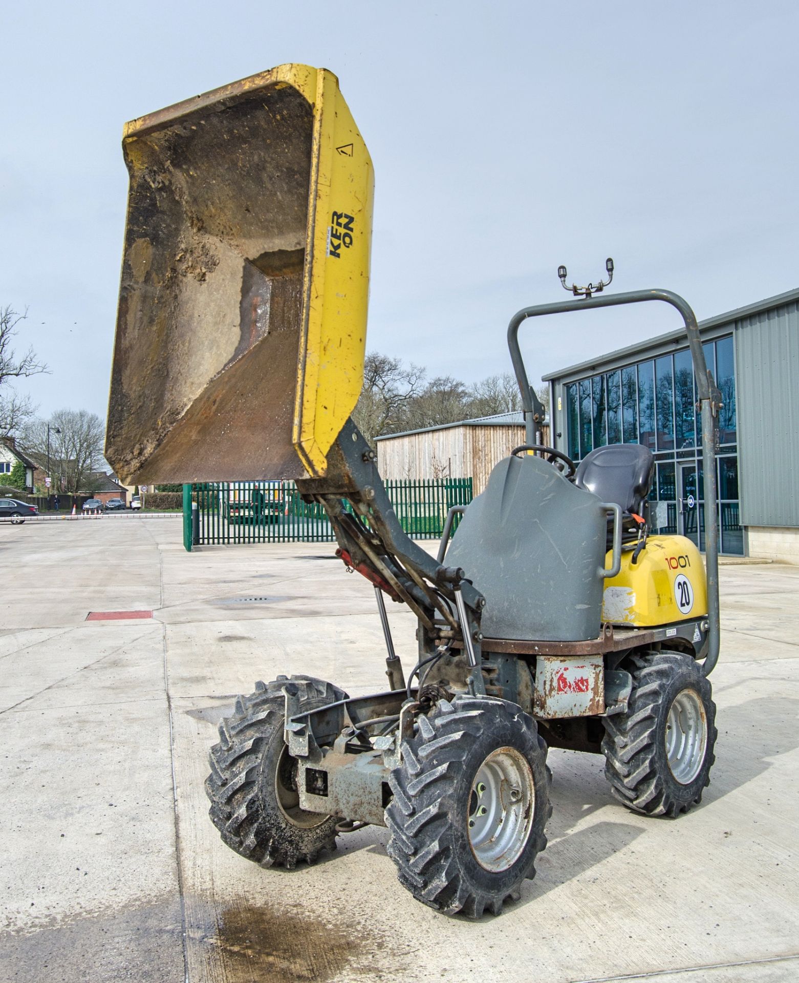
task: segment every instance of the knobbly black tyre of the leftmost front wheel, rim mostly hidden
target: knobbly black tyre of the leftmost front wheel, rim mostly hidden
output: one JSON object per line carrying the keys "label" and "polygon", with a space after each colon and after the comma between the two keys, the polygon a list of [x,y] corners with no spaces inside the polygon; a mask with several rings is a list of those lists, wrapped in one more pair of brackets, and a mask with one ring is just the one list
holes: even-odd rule
{"label": "knobbly black tyre of the leftmost front wheel, rim mostly hidden", "polygon": [[336,818],[299,806],[296,763],[283,739],[289,682],[300,690],[303,711],[347,698],[311,676],[257,682],[256,692],[240,696],[233,716],[219,723],[219,743],[208,755],[208,815],[232,850],[264,867],[313,863],[321,850],[335,848]]}

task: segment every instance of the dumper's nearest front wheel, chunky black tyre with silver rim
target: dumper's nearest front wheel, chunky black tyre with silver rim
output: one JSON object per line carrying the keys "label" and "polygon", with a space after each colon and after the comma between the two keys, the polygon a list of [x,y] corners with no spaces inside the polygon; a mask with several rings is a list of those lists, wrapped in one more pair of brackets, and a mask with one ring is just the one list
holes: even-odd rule
{"label": "dumper's nearest front wheel, chunky black tyre with silver rim", "polygon": [[389,784],[387,852],[413,896],[470,918],[518,899],[552,812],[531,717],[502,700],[440,700],[403,741]]}

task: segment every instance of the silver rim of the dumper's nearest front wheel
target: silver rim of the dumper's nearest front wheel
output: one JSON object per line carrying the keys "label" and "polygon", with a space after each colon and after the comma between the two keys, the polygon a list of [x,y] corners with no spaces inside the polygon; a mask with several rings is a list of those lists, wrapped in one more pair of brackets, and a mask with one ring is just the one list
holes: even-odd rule
{"label": "silver rim of the dumper's nearest front wheel", "polygon": [[469,843],[481,867],[502,871],[519,859],[533,829],[533,771],[513,747],[492,751],[478,769],[469,796]]}

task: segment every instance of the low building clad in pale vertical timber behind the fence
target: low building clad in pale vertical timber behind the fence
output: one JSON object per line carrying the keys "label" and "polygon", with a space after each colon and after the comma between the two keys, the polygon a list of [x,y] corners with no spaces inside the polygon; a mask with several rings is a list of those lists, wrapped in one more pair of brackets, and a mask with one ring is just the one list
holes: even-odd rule
{"label": "low building clad in pale vertical timber behind the fence", "polygon": [[[548,427],[542,440],[548,442]],[[471,478],[475,494],[491,469],[525,442],[521,413],[460,420],[425,430],[377,437],[377,467],[386,480]]]}

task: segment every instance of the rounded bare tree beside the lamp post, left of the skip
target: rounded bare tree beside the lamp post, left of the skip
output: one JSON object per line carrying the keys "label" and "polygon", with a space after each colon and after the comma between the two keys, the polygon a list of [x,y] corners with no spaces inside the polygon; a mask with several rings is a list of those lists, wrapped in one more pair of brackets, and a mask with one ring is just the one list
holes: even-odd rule
{"label": "rounded bare tree beside the lamp post, left of the skip", "polygon": [[25,428],[21,442],[26,450],[47,454],[47,425],[50,426],[50,470],[57,476],[55,487],[62,492],[94,492],[102,467],[105,425],[87,410],[59,410],[47,420],[34,420]]}

